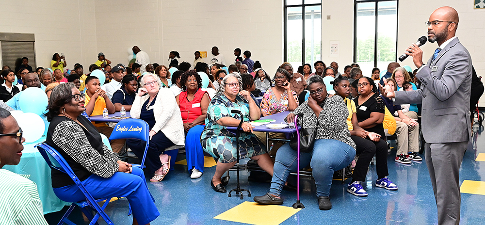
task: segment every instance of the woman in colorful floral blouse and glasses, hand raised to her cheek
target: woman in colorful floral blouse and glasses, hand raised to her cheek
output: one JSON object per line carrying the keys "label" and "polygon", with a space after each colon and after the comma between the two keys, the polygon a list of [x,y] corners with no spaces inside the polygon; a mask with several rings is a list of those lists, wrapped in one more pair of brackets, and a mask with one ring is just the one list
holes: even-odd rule
{"label": "woman in colorful floral blouse and glasses, hand raised to her cheek", "polygon": [[[275,86],[269,88],[263,95],[261,100],[261,114],[262,116],[273,115],[279,112],[293,111],[298,107],[298,95],[291,90],[290,73],[285,69],[277,69],[275,74]],[[265,132],[255,132],[259,141],[266,143]],[[269,133],[270,138],[286,139],[284,133]],[[270,156],[276,156],[276,151],[283,145],[281,141],[270,141],[268,145],[273,145]]]}

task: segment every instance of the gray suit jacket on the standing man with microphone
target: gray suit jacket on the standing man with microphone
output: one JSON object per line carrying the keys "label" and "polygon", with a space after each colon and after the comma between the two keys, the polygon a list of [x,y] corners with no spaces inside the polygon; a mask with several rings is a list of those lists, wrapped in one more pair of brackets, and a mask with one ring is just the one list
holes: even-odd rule
{"label": "gray suit jacket on the standing man with microphone", "polygon": [[432,60],[433,56],[416,74],[421,88],[395,92],[394,103],[422,102],[421,127],[427,143],[467,142],[471,132],[470,53],[455,38]]}

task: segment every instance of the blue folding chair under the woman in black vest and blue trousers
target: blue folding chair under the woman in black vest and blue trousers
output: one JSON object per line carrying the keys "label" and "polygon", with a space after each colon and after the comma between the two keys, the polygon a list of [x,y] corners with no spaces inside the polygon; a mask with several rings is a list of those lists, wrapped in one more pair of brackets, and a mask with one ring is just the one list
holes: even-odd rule
{"label": "blue folding chair under the woman in black vest and blue trousers", "polygon": [[[36,145],[36,147],[37,149],[39,149],[40,154],[42,155],[44,160],[46,160],[49,167],[51,169],[56,169],[58,171],[61,171],[69,175],[69,177],[71,177],[71,179],[74,181],[74,183],[78,186],[78,188],[86,197],[85,201],[72,203],[71,207],[67,209],[66,213],[61,218],[61,221],[59,222],[58,225],[62,225],[64,223],[68,225],[76,225],[67,218],[76,206],[78,206],[81,209],[82,213],[84,213],[84,215],[86,215],[86,217],[91,221],[89,225],[97,224],[97,220],[99,219],[99,216],[101,216],[108,225],[113,225],[113,222],[111,221],[110,217],[108,217],[108,215],[106,215],[106,213],[104,212],[104,209],[106,208],[106,206],[108,206],[108,203],[110,202],[109,200],[111,199],[111,197],[101,198],[97,200],[94,199],[94,197],[86,190],[86,188],[84,188],[84,185],[82,185],[81,180],[79,180],[79,178],[74,174],[71,167],[67,164],[64,158],[61,156],[61,154],[59,154],[59,152],[57,152],[54,148],[47,145],[46,143],[40,143]],[[102,201],[105,201],[105,202],[103,206],[100,207],[98,205],[98,202],[102,202]],[[91,211],[88,209],[95,211],[96,214],[93,216]]]}

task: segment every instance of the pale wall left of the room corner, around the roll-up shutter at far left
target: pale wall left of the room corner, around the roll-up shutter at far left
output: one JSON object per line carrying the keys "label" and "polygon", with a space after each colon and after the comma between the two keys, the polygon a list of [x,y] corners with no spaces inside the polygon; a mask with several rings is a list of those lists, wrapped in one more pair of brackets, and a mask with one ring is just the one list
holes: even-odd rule
{"label": "pale wall left of the room corner, around the roll-up shutter at far left", "polygon": [[55,52],[65,54],[71,69],[96,62],[94,0],[2,0],[1,9],[1,32],[35,34],[37,66],[50,67]]}

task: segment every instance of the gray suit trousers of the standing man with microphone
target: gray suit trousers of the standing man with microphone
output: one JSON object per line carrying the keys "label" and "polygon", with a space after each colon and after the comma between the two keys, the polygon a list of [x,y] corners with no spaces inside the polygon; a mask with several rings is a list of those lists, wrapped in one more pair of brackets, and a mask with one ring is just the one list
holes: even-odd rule
{"label": "gray suit trousers of the standing man with microphone", "polygon": [[425,144],[426,164],[438,208],[438,225],[460,224],[458,174],[467,146],[468,142]]}

